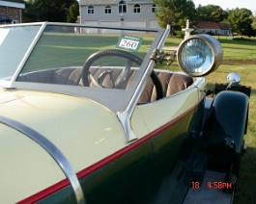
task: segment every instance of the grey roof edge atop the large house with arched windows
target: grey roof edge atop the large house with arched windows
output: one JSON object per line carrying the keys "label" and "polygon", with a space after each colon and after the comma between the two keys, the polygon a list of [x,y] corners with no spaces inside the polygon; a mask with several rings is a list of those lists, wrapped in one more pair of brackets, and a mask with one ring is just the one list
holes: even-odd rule
{"label": "grey roof edge atop the large house with arched windows", "polygon": [[[121,0],[80,0],[80,5],[109,5],[118,4]],[[129,3],[153,3],[153,0],[125,0],[127,4]]]}

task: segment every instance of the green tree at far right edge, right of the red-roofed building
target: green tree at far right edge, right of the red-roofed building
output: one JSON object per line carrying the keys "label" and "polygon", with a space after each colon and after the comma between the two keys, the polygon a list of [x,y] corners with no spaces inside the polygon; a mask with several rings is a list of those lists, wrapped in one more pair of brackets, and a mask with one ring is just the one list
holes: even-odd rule
{"label": "green tree at far right edge, right of the red-roofed building", "polygon": [[252,29],[251,19],[252,13],[247,9],[235,9],[229,12],[228,21],[231,24],[233,31],[240,36],[252,37],[254,31]]}

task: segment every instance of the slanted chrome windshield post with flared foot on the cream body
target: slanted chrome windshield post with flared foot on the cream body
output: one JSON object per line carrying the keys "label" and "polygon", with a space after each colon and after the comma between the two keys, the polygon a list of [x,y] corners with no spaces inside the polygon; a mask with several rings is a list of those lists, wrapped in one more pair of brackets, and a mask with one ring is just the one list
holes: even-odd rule
{"label": "slanted chrome windshield post with flared foot on the cream body", "polygon": [[[168,38],[169,33],[170,33],[170,26],[167,26],[167,28],[165,29],[165,31],[162,35],[162,38],[160,38],[160,40],[156,46],[156,49],[162,50],[162,47],[165,43],[166,38]],[[155,64],[156,64],[156,62],[154,60],[150,60],[145,72],[143,73],[141,81],[139,82],[138,86],[136,87],[134,94],[132,95],[132,97],[128,103],[128,107],[127,107],[126,111],[117,113],[117,116],[123,125],[128,142],[138,139],[132,131],[132,128],[130,125],[130,123],[131,123],[130,119],[131,119],[131,115],[133,114],[133,111],[136,107],[137,101],[138,101],[144,87],[146,86],[147,80],[150,77]]]}

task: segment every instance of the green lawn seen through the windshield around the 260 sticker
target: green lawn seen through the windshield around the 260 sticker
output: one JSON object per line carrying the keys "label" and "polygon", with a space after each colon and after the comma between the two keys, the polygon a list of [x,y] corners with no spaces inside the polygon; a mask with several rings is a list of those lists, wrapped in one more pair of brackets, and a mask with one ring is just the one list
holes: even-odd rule
{"label": "green lawn seen through the windshield around the 260 sticker", "polygon": [[[115,49],[119,38],[120,35],[89,36],[46,33],[38,42],[37,48],[33,51],[29,62],[23,70],[31,71],[65,66],[82,66],[97,51]],[[153,39],[152,35],[143,38],[140,50],[136,55],[143,59]],[[97,63],[104,62],[104,65],[122,65],[121,59],[117,60],[114,57],[107,56],[101,58]],[[127,60],[124,60],[123,64],[127,64]]]}

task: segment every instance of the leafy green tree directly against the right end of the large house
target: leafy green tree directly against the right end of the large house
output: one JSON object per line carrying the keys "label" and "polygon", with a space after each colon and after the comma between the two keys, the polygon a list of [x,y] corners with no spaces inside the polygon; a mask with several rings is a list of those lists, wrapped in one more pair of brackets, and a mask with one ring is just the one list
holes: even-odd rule
{"label": "leafy green tree directly against the right end of the large house", "polygon": [[156,17],[159,25],[172,24],[175,30],[185,26],[185,20],[193,20],[195,6],[192,0],[154,0],[157,6]]}

